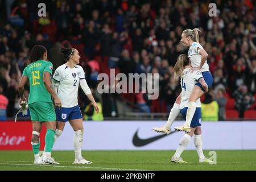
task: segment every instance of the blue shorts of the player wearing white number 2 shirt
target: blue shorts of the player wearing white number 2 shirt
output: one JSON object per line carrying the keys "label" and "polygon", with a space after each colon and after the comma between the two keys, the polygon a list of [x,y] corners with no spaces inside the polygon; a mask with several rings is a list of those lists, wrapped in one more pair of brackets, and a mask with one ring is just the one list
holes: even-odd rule
{"label": "blue shorts of the player wearing white number 2 shirt", "polygon": [[75,107],[56,107],[56,119],[57,121],[67,122],[72,119],[80,119],[82,118],[82,113],[79,105]]}

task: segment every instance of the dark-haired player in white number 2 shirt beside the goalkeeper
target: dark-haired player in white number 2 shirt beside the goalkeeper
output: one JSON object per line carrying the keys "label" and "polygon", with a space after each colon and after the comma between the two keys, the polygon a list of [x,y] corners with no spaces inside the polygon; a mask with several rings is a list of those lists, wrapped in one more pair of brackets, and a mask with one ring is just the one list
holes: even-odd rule
{"label": "dark-haired player in white number 2 shirt beside the goalkeeper", "polygon": [[79,52],[75,48],[61,48],[67,63],[58,67],[53,75],[53,86],[57,96],[60,97],[62,108],[56,109],[57,126],[55,140],[60,137],[64,130],[65,122],[69,121],[75,137],[73,144],[75,147],[75,162],[73,164],[91,164],[92,162],[82,158],[82,135],[84,128],[82,126],[82,114],[77,101],[77,92],[79,84],[82,90],[92,102],[92,105],[98,113],[98,105],[96,104],[89,86],[85,80],[85,73],[79,64]]}

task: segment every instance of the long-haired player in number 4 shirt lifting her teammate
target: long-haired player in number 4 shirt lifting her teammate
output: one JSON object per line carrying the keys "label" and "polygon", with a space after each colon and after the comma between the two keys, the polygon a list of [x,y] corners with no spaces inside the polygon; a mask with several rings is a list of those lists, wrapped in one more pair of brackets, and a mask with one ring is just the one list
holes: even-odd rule
{"label": "long-haired player in number 4 shirt lifting her teammate", "polygon": [[[181,78],[180,84],[182,87],[181,91],[181,103],[180,103],[180,112],[184,118],[187,115],[187,109],[189,105],[189,98],[191,97],[192,90],[194,85],[197,84],[199,81],[202,83],[203,89],[207,92],[208,85],[205,84],[203,75],[201,71],[190,72],[189,69],[191,67],[191,63],[188,59],[187,55],[180,55],[177,59],[177,63],[174,67],[174,75],[179,76]],[[201,102],[200,98],[196,100],[196,111],[192,117],[191,122],[191,131],[185,134],[179,142],[179,147],[177,148],[174,156],[172,156],[171,162],[175,163],[186,163],[180,155],[187,147],[188,143],[190,142],[191,138],[194,136],[194,143],[196,146],[197,154],[199,155],[199,162],[200,163],[209,163],[212,164],[213,162],[207,158],[205,158],[202,148],[202,137],[201,137]]]}

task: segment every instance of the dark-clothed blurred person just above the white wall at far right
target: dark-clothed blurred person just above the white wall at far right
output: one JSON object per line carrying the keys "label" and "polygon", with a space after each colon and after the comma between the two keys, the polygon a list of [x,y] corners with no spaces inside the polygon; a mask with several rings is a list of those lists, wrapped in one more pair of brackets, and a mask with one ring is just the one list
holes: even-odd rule
{"label": "dark-clothed blurred person just above the white wall at far right", "polygon": [[236,99],[235,108],[239,112],[239,117],[243,118],[245,110],[250,109],[251,105],[255,102],[254,97],[248,92],[246,85],[241,85],[235,92],[234,98]]}

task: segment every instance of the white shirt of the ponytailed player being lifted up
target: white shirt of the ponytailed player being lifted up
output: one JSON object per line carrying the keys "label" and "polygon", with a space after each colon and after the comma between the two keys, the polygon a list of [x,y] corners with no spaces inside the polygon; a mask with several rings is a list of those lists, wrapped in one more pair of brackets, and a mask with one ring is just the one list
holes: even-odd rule
{"label": "white shirt of the ponytailed player being lifted up", "polygon": [[[188,50],[188,57],[191,61],[192,67],[199,67],[201,63],[201,55],[199,51],[204,49],[199,43],[193,42]],[[207,60],[205,61],[203,67],[200,69],[201,72],[209,71],[209,65],[207,64]]]}

